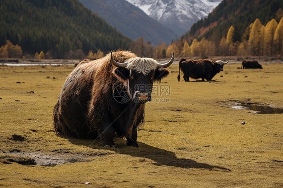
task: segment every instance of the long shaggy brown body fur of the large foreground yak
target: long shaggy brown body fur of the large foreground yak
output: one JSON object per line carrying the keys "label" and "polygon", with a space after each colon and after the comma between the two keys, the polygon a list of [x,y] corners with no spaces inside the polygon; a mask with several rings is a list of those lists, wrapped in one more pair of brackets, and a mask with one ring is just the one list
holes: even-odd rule
{"label": "long shaggy brown body fur of the large foreground yak", "polygon": [[[143,73],[152,67],[156,68],[152,61],[144,66],[129,67],[136,65],[136,61],[148,60],[141,60],[143,58],[137,58],[128,51],[113,52],[113,57],[120,63],[129,60],[128,69],[138,68]],[[68,75],[53,112],[54,131],[57,134],[97,138],[101,137],[102,125],[110,124],[115,127],[117,134],[128,137],[133,126],[144,124],[145,104],[120,104],[114,100],[114,88],[122,88],[126,82],[114,73],[115,69],[117,67],[112,65],[110,54],[107,54],[94,61],[80,62]]]}

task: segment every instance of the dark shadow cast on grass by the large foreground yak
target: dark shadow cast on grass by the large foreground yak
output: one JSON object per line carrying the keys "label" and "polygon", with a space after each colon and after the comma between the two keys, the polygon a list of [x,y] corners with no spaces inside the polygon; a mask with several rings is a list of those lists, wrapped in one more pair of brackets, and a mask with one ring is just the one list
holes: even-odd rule
{"label": "dark shadow cast on grass by the large foreground yak", "polygon": [[154,163],[155,165],[175,166],[180,168],[205,168],[216,171],[230,171],[230,169],[221,166],[199,163],[194,160],[186,159],[186,158],[177,158],[176,154],[172,151],[167,151],[164,149],[153,147],[142,142],[138,142],[139,147],[136,148],[132,146],[126,146],[125,141],[123,139],[119,139],[119,140],[116,139],[115,142],[117,148],[112,148],[112,147],[102,147],[99,141],[82,140],[75,138],[69,138],[69,141],[73,144],[85,145],[93,149],[106,149],[106,150],[115,151],[120,154],[130,155],[134,157],[148,158],[155,161]]}

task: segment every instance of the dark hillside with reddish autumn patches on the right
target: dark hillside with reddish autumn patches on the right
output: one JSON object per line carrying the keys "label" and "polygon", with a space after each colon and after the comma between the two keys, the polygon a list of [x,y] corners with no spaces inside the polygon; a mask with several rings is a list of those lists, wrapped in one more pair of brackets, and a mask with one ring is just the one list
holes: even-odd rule
{"label": "dark hillside with reddish autumn patches on the right", "polygon": [[205,37],[216,42],[226,37],[229,28],[233,26],[233,41],[241,41],[247,26],[257,18],[263,25],[273,18],[279,22],[282,9],[282,0],[224,0],[207,18],[195,23],[181,38],[192,41],[194,38]]}

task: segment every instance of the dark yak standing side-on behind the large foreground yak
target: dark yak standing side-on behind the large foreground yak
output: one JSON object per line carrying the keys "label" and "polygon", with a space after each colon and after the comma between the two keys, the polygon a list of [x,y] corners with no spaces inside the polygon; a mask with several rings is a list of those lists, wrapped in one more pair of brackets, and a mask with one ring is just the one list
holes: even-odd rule
{"label": "dark yak standing side-on behind the large foreground yak", "polygon": [[204,78],[208,81],[211,80],[217,73],[223,70],[223,65],[227,64],[227,62],[223,62],[221,60],[213,61],[211,59],[200,59],[200,60],[193,60],[193,59],[184,59],[182,58],[179,61],[179,75],[178,81],[180,81],[180,69],[184,73],[184,80],[190,81],[189,77],[191,78],[201,78],[204,81]]}

